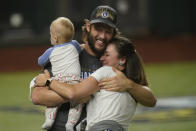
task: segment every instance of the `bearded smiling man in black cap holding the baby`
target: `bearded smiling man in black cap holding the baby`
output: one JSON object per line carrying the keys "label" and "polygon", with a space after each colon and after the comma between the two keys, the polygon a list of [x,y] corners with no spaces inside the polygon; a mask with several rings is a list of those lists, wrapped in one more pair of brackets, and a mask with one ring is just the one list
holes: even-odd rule
{"label": "bearded smiling man in black cap holding the baby", "polygon": [[[85,48],[80,53],[81,78],[88,77],[92,72],[101,67],[99,57],[103,54],[107,43],[115,35],[118,35],[116,25],[117,13],[109,6],[98,6],[92,12],[90,20],[85,21],[85,26],[83,28]],[[44,77],[44,75],[39,76]],[[39,82],[39,79],[37,79],[36,82]],[[47,80],[47,84],[49,83],[50,81]],[[112,79],[104,80],[100,83],[100,86],[107,90],[128,91],[136,101],[146,106],[154,106],[156,103],[156,98],[150,89],[134,83],[132,80],[126,78],[121,72],[117,72],[117,76]],[[110,86],[113,88],[110,88]],[[59,96],[45,87],[35,87],[32,93],[32,100],[34,104],[45,106],[58,106],[62,104],[50,131],[65,131],[64,125],[67,121],[69,110],[69,104],[66,98]],[[86,112],[84,109],[80,121],[85,118],[85,116]]]}

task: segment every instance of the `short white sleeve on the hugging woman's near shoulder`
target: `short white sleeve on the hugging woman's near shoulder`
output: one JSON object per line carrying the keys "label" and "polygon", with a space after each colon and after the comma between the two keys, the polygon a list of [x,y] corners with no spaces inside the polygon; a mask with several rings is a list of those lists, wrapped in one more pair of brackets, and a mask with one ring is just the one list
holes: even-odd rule
{"label": "short white sleeve on the hugging woman's near shoulder", "polygon": [[112,70],[111,66],[103,66],[91,74],[91,76],[94,77],[98,82],[103,78],[109,78],[115,75],[116,73]]}

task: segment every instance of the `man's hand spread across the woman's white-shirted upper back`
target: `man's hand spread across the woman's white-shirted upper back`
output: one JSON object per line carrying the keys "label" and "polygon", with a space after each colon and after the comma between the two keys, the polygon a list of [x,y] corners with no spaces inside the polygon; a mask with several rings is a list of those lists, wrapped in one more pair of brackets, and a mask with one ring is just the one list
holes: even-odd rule
{"label": "man's hand spread across the woman's white-shirted upper back", "polygon": [[115,77],[111,78],[105,78],[99,82],[99,87],[101,89],[105,89],[107,91],[117,91],[117,92],[123,92],[130,89],[130,80],[127,79],[127,77],[116,68],[112,68],[114,72],[116,72]]}

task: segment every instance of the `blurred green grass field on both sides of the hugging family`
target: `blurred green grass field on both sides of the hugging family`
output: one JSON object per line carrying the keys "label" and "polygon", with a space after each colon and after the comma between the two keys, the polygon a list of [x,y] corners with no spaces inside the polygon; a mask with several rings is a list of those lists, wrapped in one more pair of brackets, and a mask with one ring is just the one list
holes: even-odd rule
{"label": "blurred green grass field on both sides of the hugging family", "polygon": [[[160,97],[194,96],[196,62],[145,65],[150,87]],[[39,71],[0,73],[0,131],[39,131],[43,107],[29,99],[29,82]],[[132,123],[130,131],[193,131],[196,121]]]}

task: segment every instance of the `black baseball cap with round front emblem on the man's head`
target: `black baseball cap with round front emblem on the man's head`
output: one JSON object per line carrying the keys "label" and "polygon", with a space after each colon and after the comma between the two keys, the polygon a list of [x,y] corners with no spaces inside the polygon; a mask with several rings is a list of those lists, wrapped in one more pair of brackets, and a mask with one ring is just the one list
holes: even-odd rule
{"label": "black baseball cap with round front emblem on the man's head", "polygon": [[112,28],[116,28],[117,25],[117,13],[116,10],[107,5],[96,7],[91,13],[90,23],[104,23]]}

